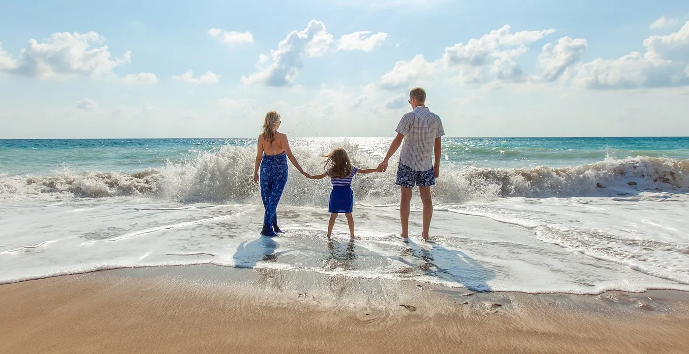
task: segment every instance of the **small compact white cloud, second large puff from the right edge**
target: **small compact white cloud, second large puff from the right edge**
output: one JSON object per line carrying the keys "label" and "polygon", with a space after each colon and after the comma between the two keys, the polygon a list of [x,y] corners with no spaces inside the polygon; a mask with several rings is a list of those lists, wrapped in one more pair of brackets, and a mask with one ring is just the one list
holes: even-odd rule
{"label": "small compact white cloud, second large puff from the right edge", "polygon": [[582,58],[586,51],[586,39],[563,37],[557,44],[548,43],[538,56],[538,67],[543,81],[555,81],[564,71]]}

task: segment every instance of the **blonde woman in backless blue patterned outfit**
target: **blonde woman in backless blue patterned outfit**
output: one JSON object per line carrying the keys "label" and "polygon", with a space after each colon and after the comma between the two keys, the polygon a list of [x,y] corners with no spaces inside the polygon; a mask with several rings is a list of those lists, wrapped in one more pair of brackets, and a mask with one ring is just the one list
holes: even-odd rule
{"label": "blonde woman in backless blue patterned outfit", "polygon": [[305,174],[297,162],[291,149],[287,135],[278,132],[280,114],[270,111],[263,121],[263,132],[258,136],[258,152],[254,165],[254,182],[258,183],[258,167],[260,166],[260,196],[263,199],[265,215],[263,216],[263,230],[261,235],[275,237],[276,232],[282,233],[278,227],[278,202],[282,190],[287,184],[287,158],[292,162],[300,174]]}

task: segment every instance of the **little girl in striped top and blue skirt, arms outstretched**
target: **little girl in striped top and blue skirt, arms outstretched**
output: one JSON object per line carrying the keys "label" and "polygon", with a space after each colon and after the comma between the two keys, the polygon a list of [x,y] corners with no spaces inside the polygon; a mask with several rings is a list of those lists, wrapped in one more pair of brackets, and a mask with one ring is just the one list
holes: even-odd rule
{"label": "little girl in striped top and blue skirt, arms outstretched", "polygon": [[338,218],[338,214],[345,213],[347,217],[347,224],[349,224],[349,237],[354,237],[354,220],[351,217],[351,209],[354,206],[354,194],[351,190],[351,179],[355,174],[370,174],[371,172],[376,172],[378,169],[358,169],[351,165],[349,161],[349,156],[345,149],[338,147],[333,150],[330,154],[324,155],[327,157],[323,165],[325,165],[325,174],[319,174],[318,176],[309,176],[311,179],[320,179],[325,176],[330,177],[330,181],[333,184],[333,191],[330,192],[330,205],[328,211],[330,214],[330,222],[328,222],[328,235],[327,238],[330,239],[330,235],[333,232],[333,226],[335,225],[335,220]]}

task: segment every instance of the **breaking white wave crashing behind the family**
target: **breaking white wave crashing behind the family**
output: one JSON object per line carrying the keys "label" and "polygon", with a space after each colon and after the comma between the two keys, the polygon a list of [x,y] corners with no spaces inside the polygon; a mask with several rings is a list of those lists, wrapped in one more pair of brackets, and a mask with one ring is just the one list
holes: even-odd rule
{"label": "breaking white wave crashing behind the family", "polygon": [[[333,144],[334,145],[334,144]],[[378,160],[358,145],[343,142],[353,163],[375,167]],[[325,151],[324,151],[325,152]],[[0,176],[0,198],[12,200],[45,198],[105,198],[131,196],[178,202],[260,202],[258,185],[252,182],[253,149],[225,146],[217,152],[200,152],[196,158],[168,163],[163,169],[138,174],[121,172],[73,173],[58,171],[51,176]],[[322,158],[306,149],[296,156],[307,171],[318,172]],[[361,202],[393,202],[396,165],[385,174],[358,176],[353,183]],[[623,160],[552,169],[548,167],[501,169],[441,166],[442,178],[433,193],[440,202],[466,202],[506,197],[609,196],[635,198],[641,191],[689,192],[689,160],[637,156]],[[301,176],[294,168],[285,189],[290,205],[322,205],[329,186]]]}

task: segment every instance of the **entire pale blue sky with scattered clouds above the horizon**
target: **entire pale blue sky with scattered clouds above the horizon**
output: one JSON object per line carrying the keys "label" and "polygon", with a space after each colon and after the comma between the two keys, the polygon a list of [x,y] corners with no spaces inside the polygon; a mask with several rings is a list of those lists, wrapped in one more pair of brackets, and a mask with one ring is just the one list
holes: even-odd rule
{"label": "entire pale blue sky with scattered clouds above the horizon", "polygon": [[3,1],[0,138],[689,136],[689,2]]}

